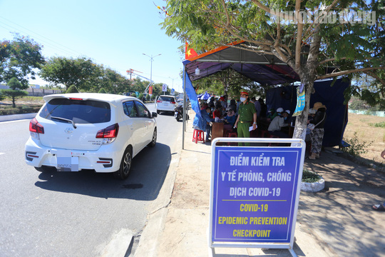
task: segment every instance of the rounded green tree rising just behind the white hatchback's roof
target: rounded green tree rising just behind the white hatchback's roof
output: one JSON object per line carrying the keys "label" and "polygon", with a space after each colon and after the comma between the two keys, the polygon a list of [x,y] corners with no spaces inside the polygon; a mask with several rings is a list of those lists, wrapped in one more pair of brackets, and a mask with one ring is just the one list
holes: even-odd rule
{"label": "rounded green tree rising just behind the white hatchback's roof", "polygon": [[86,57],[73,59],[53,56],[41,68],[39,76],[54,86],[63,84],[68,89],[75,85],[78,89],[88,91],[102,74],[102,67]]}

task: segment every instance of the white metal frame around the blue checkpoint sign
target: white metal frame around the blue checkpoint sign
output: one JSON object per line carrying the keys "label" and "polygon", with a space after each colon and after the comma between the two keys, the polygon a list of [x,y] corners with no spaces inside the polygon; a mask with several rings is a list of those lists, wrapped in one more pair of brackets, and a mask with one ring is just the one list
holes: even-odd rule
{"label": "white metal frame around the blue checkpoint sign", "polygon": [[[292,185],[292,191],[294,191],[294,186],[296,186],[297,191],[293,192],[292,198],[294,198],[294,207],[292,208],[292,218],[291,223],[289,222],[288,229],[291,226],[290,231],[290,238],[289,242],[284,243],[277,243],[277,242],[269,242],[269,240],[266,240],[267,242],[235,242],[234,240],[224,240],[222,241],[212,241],[212,234],[213,234],[213,213],[215,208],[214,203],[214,196],[215,196],[215,160],[216,160],[216,148],[226,148],[228,147],[229,151],[239,151],[240,146],[216,146],[217,143],[290,143],[291,146],[241,146],[242,148],[247,148],[247,151],[259,151],[269,148],[272,151],[277,148],[287,148],[287,150],[293,149],[300,152],[299,157],[299,163],[298,169],[296,169],[294,172],[298,172],[297,181],[293,181]],[[238,150],[237,150],[238,148]],[[302,139],[297,138],[215,138],[212,141],[211,146],[211,153],[212,153],[212,159],[211,159],[211,180],[210,180],[210,224],[209,224],[209,233],[208,233],[208,245],[211,248],[211,253],[214,253],[215,248],[281,248],[281,249],[288,249],[289,252],[292,254],[292,256],[296,257],[297,254],[293,250],[294,245],[294,230],[295,230],[295,224],[297,221],[297,211],[298,211],[298,203],[299,203],[299,193],[301,191],[301,180],[302,180],[302,169],[304,165],[304,154],[305,154],[305,148],[306,144]],[[225,151],[225,150],[224,150]],[[227,151],[227,150],[226,150]],[[279,151],[277,149],[276,151]],[[283,151],[282,151],[283,152]],[[217,167],[218,169],[220,167]],[[246,200],[245,200],[246,201]],[[217,213],[217,209],[215,209],[215,213]],[[273,239],[274,240],[274,239]],[[255,240],[257,241],[257,240]]]}

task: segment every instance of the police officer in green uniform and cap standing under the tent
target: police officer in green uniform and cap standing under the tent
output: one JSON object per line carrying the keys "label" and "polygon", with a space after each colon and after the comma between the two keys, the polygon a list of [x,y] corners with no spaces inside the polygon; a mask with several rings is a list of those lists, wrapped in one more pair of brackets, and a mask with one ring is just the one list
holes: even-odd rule
{"label": "police officer in green uniform and cap standing under the tent", "polygon": [[[235,127],[237,128],[238,137],[249,138],[249,127],[252,126],[252,130],[257,129],[257,111],[255,105],[250,103],[247,99],[249,94],[245,91],[240,93],[240,107],[238,109],[237,121],[235,121]],[[242,146],[242,143],[238,143]],[[245,143],[245,146],[250,146],[250,143]]]}

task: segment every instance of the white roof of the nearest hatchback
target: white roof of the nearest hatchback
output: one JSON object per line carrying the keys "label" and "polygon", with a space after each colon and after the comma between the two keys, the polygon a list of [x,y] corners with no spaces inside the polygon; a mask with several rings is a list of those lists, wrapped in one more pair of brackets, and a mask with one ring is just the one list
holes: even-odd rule
{"label": "white roof of the nearest hatchback", "polygon": [[58,98],[75,98],[75,99],[83,99],[83,100],[97,100],[97,101],[107,101],[110,103],[118,102],[122,100],[130,100],[130,99],[136,99],[136,97],[133,96],[123,96],[123,95],[116,95],[116,94],[99,94],[99,93],[70,93],[70,94],[51,94],[48,96],[43,96],[44,101],[48,102],[51,99],[58,99]]}

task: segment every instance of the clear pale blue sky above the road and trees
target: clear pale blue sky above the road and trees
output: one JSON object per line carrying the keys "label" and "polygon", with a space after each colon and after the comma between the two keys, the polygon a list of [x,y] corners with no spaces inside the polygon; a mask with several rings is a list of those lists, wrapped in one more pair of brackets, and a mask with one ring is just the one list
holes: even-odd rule
{"label": "clear pale blue sky above the road and trees", "polygon": [[[42,54],[77,58],[86,56],[123,76],[128,69],[150,79],[153,57],[154,83],[182,91],[183,42],[165,34],[155,6],[163,0],[0,0],[0,39],[12,32],[43,45]],[[143,54],[147,54],[145,56]],[[160,54],[160,56],[157,56]],[[31,84],[48,84],[42,79]]]}

